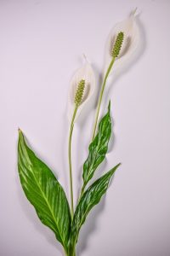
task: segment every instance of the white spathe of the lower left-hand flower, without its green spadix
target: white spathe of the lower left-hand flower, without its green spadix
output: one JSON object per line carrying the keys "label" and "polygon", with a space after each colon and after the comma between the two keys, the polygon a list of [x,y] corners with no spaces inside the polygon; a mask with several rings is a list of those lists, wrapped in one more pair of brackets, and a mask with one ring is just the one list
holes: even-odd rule
{"label": "white spathe of the lower left-hand flower, without its green spadix", "polygon": [[77,92],[77,86],[82,81],[85,80],[85,87],[82,95],[82,101],[77,109],[77,117],[82,112],[83,108],[86,108],[87,104],[92,100],[94,97],[94,92],[96,88],[96,82],[94,77],[94,70],[91,65],[88,63],[87,59],[85,60],[85,64],[77,69],[76,73],[73,75],[71,79],[71,87],[68,94],[68,118],[71,121],[72,115],[75,109],[75,96]]}

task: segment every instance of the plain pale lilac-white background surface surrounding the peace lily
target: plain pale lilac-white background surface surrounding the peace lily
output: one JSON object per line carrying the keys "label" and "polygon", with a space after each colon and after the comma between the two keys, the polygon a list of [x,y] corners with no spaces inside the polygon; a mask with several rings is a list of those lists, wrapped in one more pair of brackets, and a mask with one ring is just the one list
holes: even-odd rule
{"label": "plain pale lilac-white background surface surrounding the peace lily", "polygon": [[[138,7],[143,49],[107,85],[114,143],[102,165],[119,161],[106,197],[82,227],[78,256],[170,255],[170,1],[0,1],[0,255],[63,255],[20,187],[17,129],[69,195],[67,92],[88,55],[97,81],[105,39]],[[99,86],[99,83],[98,83]],[[82,182],[94,109],[73,135],[74,192]],[[101,173],[101,170],[99,171]]]}

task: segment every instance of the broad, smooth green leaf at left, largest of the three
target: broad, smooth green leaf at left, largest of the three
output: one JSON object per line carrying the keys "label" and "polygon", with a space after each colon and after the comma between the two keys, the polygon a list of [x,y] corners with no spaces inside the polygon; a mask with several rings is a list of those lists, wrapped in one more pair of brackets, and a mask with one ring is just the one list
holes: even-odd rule
{"label": "broad, smooth green leaf at left, largest of the three", "polygon": [[71,230],[71,212],[64,189],[54,173],[39,160],[19,131],[18,169],[27,199],[35,207],[42,224],[54,231],[67,251]]}

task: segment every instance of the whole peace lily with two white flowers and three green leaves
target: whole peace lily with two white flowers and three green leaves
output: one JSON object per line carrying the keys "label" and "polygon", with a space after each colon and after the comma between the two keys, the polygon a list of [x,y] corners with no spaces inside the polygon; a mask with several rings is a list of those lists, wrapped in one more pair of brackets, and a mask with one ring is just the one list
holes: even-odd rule
{"label": "whole peace lily with two white flowers and three green leaves", "polygon": [[78,235],[84,224],[88,212],[99,203],[102,195],[108,189],[111,177],[116,172],[120,163],[111,168],[105,175],[88,185],[89,181],[105,160],[108,143],[111,137],[111,102],[107,112],[99,120],[99,110],[105,91],[105,85],[114,67],[121,67],[123,62],[129,60],[139,45],[139,28],[135,15],[118,23],[109,35],[105,53],[105,76],[101,86],[92,141],[88,148],[88,157],[83,164],[82,189],[74,209],[74,196],[72,185],[71,165],[71,137],[74,125],[82,108],[85,108],[96,90],[93,68],[88,61],[77,70],[71,79],[69,91],[69,117],[70,132],[68,138],[68,166],[70,176],[70,204],[65,195],[65,190],[60,185],[54,173],[37,155],[28,147],[23,132],[19,130],[18,141],[18,170],[20,183],[27,199],[35,207],[42,224],[54,231],[56,239],[64,248],[65,256],[76,256]]}

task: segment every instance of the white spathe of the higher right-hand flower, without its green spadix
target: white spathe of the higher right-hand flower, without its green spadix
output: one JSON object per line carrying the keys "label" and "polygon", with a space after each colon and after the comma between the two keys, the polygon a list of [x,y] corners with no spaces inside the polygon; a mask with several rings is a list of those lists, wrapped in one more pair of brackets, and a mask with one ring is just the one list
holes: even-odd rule
{"label": "white spathe of the higher right-hand flower, without its green spadix", "polygon": [[121,51],[116,58],[116,61],[111,69],[111,72],[120,68],[124,65],[127,65],[129,61],[133,60],[134,55],[138,53],[140,45],[140,33],[139,26],[136,22],[135,11],[127,18],[114,26],[109,34],[105,45],[105,70],[109,67],[112,56],[111,50],[115,44],[116,37],[119,32],[123,32],[124,38],[122,42]]}

